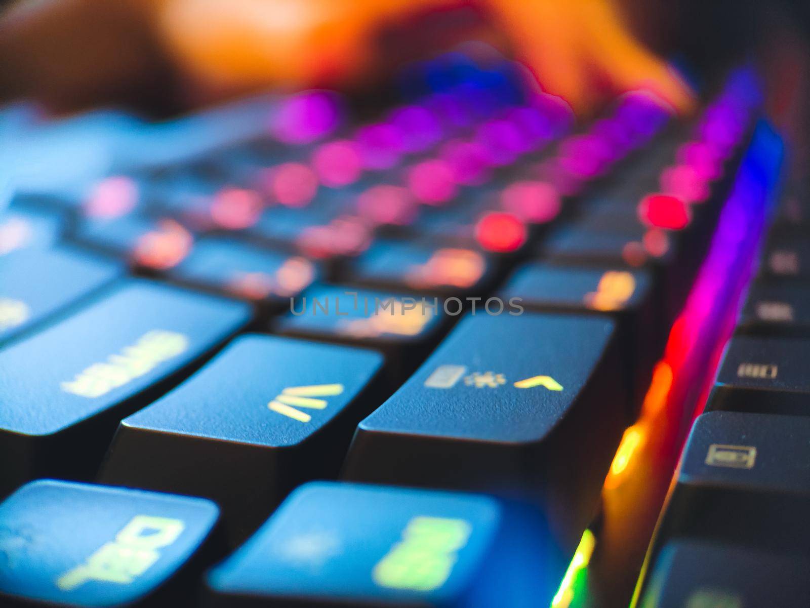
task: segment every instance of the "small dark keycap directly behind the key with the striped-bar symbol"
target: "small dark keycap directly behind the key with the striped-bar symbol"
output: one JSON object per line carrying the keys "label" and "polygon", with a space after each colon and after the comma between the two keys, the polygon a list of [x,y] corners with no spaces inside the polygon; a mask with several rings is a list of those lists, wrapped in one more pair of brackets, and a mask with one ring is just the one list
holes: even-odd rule
{"label": "small dark keycap directly behind the key with the striped-bar symbol", "polygon": [[810,286],[794,282],[752,283],[737,330],[787,338],[807,335],[810,332]]}

